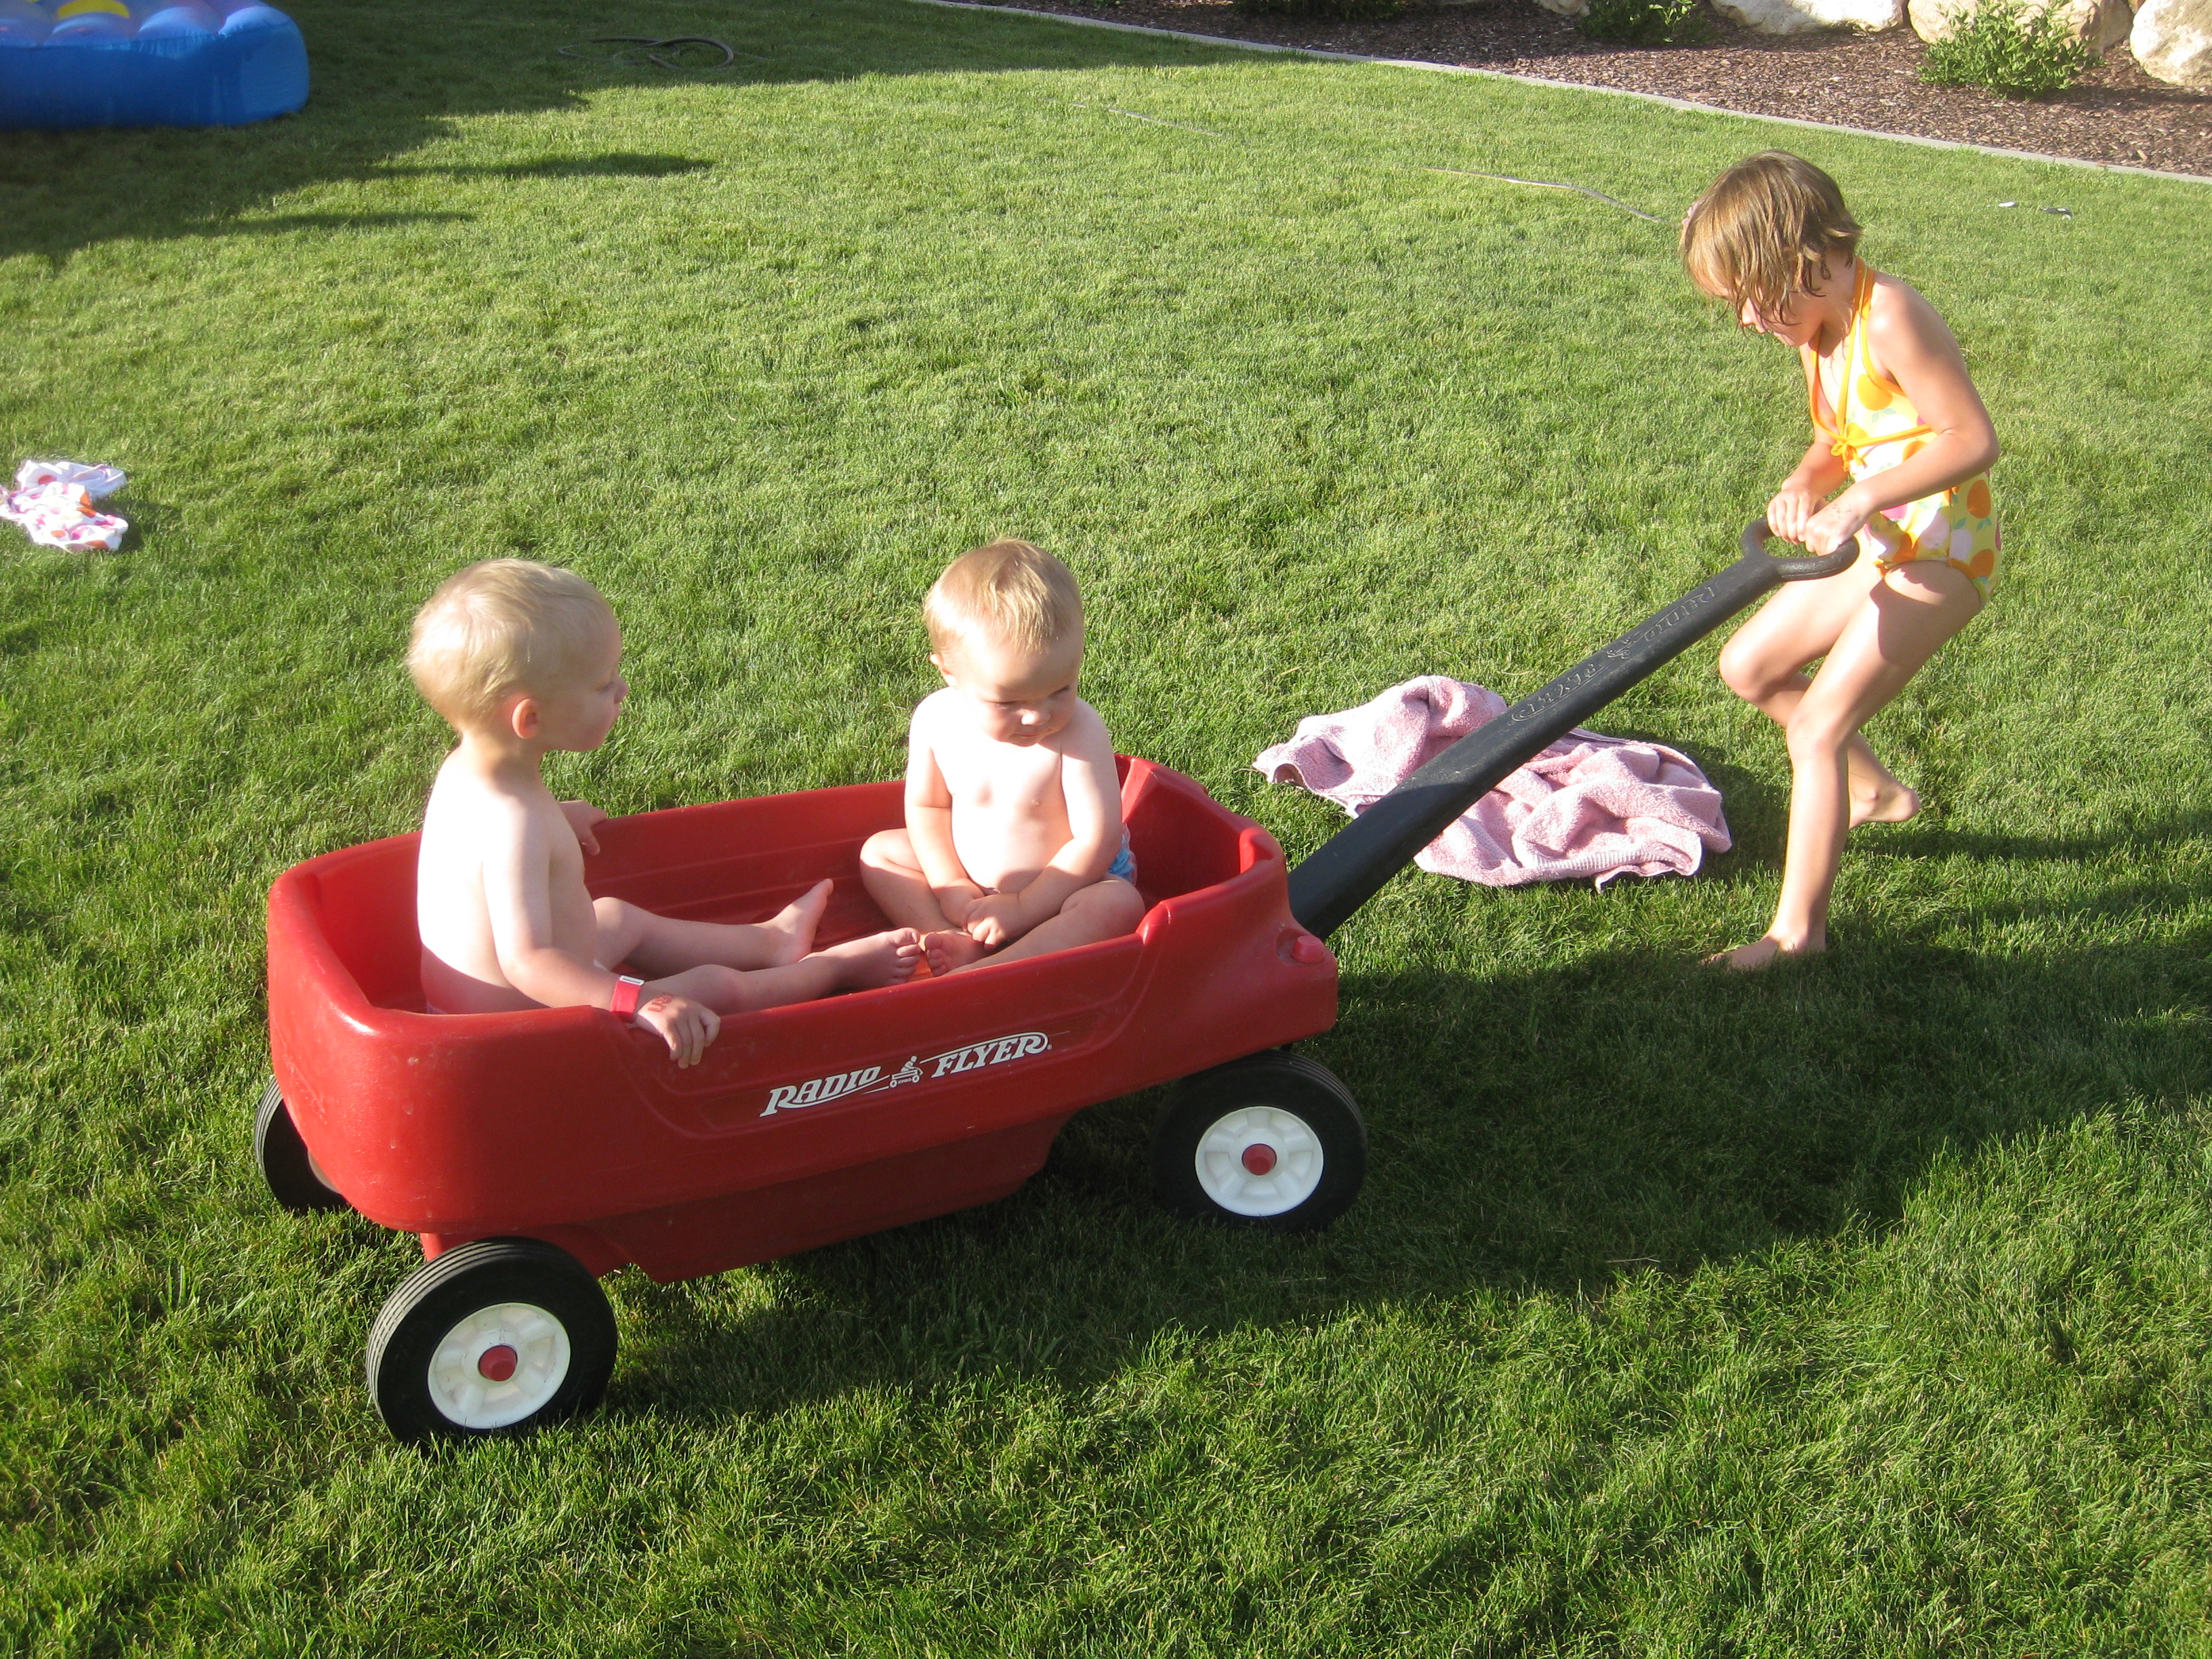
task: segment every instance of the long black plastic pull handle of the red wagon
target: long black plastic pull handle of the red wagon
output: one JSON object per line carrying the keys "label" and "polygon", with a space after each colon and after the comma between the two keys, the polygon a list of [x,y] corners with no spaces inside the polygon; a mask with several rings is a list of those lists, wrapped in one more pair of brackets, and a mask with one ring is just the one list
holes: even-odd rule
{"label": "long black plastic pull handle of the red wagon", "polygon": [[1584,657],[1429,761],[1367,812],[1329,836],[1312,858],[1290,872],[1290,914],[1327,938],[1352,911],[1413,863],[1444,825],[1498,787],[1522,761],[1579,726],[1624,690],[1672,661],[1752,599],[1783,582],[1816,582],[1847,571],[1858,546],[1823,557],[1770,557],[1767,522],[1743,531],[1743,557],[1681,599],[1646,617],[1604,650]]}

